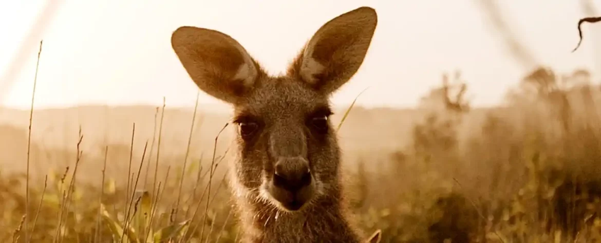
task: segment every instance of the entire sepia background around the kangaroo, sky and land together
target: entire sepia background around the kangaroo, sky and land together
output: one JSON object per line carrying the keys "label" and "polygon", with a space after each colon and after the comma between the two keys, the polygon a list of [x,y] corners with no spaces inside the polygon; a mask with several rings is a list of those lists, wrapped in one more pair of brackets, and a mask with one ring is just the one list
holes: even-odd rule
{"label": "entire sepia background around the kangaroo, sky and land together", "polygon": [[362,5],[376,33],[332,97],[334,124],[356,99],[338,137],[360,229],[382,242],[601,240],[601,23],[584,23],[572,52],[599,2],[38,0],[0,3],[1,242],[112,242],[112,226],[146,212],[129,226],[140,235],[185,222],[186,241],[235,242],[231,110],[198,92],[171,32],[222,31],[277,74]]}

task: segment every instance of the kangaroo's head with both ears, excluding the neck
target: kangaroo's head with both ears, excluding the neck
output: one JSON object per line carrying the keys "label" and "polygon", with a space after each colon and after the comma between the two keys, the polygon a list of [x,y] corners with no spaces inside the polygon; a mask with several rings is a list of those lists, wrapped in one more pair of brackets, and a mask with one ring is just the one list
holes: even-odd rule
{"label": "kangaroo's head with both ears, excluding the neck", "polygon": [[361,66],[376,23],[368,7],[330,20],[276,77],[222,32],[173,32],[171,46],[198,88],[234,108],[234,176],[243,189],[286,212],[336,189],[340,149],[329,97]]}

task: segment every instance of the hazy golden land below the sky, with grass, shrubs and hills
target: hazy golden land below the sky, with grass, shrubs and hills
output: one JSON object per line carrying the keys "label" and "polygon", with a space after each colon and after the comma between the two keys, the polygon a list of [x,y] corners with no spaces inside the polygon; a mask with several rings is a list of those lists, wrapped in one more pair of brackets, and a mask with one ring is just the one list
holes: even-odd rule
{"label": "hazy golden land below the sky, with grass, shrubs and hills", "polygon": [[[382,242],[601,241],[601,95],[583,73],[535,70],[502,107],[469,109],[447,83],[416,109],[353,107],[338,136],[358,227]],[[28,110],[0,109],[0,241],[236,242],[227,121],[88,106],[34,110],[28,129]]]}

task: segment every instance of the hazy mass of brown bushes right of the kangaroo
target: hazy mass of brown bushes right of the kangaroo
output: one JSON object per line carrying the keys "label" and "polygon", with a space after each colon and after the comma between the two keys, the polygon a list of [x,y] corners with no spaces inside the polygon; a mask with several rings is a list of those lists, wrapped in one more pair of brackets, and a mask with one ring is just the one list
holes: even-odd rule
{"label": "hazy mass of brown bushes right of the kangaroo", "polygon": [[600,240],[601,93],[583,77],[538,68],[480,121],[433,112],[367,176],[363,225],[382,242]]}

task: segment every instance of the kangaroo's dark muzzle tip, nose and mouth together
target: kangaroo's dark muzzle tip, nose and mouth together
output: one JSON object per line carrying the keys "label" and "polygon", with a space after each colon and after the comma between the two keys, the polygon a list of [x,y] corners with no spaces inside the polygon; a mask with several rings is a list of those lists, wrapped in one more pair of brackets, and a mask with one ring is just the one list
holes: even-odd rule
{"label": "kangaroo's dark muzzle tip, nose and mouth together", "polygon": [[296,211],[313,197],[309,162],[302,157],[279,158],[273,170],[269,193],[285,209]]}

